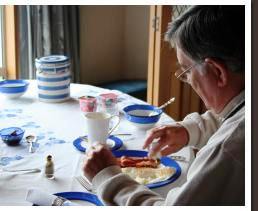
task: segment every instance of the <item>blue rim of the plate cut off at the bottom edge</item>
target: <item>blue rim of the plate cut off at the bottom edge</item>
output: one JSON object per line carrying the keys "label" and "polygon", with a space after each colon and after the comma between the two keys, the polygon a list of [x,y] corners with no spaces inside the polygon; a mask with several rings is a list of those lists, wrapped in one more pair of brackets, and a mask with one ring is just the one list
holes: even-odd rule
{"label": "blue rim of the plate cut off at the bottom edge", "polygon": [[91,193],[84,192],[60,192],[55,193],[54,195],[66,198],[68,200],[80,200],[80,201],[88,201],[97,206],[103,206],[102,202],[98,199],[98,197]]}

